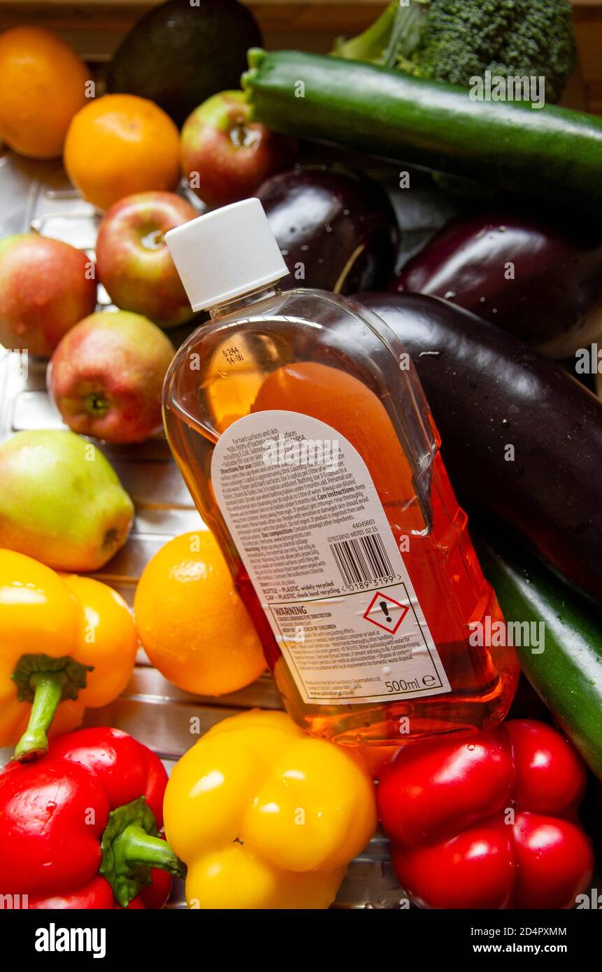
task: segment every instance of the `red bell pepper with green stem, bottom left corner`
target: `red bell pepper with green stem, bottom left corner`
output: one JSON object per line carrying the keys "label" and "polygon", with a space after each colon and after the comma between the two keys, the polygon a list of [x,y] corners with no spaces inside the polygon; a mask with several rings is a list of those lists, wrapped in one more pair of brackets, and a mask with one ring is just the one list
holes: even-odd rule
{"label": "red bell pepper with green stem, bottom left corner", "polygon": [[159,838],[166,783],[159,758],[119,729],[82,729],[38,763],[9,763],[0,894],[27,895],[28,908],[160,908],[184,867]]}

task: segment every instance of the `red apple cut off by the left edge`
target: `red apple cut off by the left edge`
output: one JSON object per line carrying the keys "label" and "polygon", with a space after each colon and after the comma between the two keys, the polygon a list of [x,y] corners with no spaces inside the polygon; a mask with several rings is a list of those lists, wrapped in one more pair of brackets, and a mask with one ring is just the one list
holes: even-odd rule
{"label": "red apple cut off by the left edge", "polygon": [[0,240],[0,344],[50,358],[96,306],[94,265],[81,250],[38,233]]}

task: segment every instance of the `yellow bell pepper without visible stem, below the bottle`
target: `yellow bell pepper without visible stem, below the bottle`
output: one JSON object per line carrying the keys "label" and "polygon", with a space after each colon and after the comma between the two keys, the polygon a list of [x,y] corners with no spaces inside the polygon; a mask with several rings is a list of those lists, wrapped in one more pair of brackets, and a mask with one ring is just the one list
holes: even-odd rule
{"label": "yellow bell pepper without visible stem, below the bottle", "polygon": [[284,712],[218,723],[173,768],[165,835],[189,908],[328,908],[376,825],[374,788],[344,748]]}

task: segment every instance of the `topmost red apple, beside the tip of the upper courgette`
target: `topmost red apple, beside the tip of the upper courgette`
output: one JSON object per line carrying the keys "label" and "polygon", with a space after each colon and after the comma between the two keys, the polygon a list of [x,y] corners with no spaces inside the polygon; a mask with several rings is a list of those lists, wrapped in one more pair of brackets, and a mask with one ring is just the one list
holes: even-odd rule
{"label": "topmost red apple, beside the tip of the upper courgette", "polygon": [[250,112],[242,91],[221,91],[184,122],[182,172],[208,206],[246,199],[297,157],[295,139],[250,121]]}

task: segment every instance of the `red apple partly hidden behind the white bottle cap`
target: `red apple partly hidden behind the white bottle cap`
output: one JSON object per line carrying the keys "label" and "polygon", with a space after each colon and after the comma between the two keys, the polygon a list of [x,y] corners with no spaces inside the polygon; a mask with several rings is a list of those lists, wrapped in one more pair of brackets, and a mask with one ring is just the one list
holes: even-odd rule
{"label": "red apple partly hidden behind the white bottle cap", "polygon": [[186,199],[161,191],[127,195],[108,210],[96,240],[96,267],[113,303],[161,328],[190,321],[193,311],[164,235],[195,216]]}

